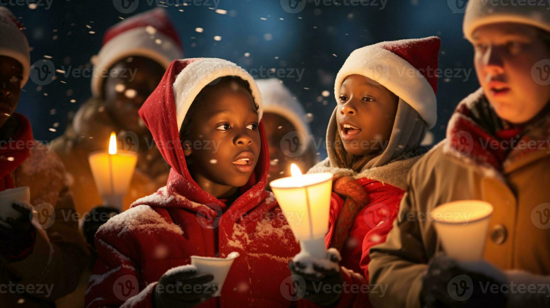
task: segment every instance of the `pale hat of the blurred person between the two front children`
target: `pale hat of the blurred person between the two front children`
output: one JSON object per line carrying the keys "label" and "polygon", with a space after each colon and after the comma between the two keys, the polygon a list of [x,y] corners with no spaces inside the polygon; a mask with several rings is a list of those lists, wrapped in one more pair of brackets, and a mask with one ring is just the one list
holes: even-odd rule
{"label": "pale hat of the blurred person between the two front children", "polygon": [[256,84],[262,94],[263,112],[275,113],[287,119],[294,129],[304,134],[306,140],[303,140],[303,144],[307,144],[310,140],[310,128],[304,120],[304,107],[283,85],[283,81],[277,78],[257,79]]}

